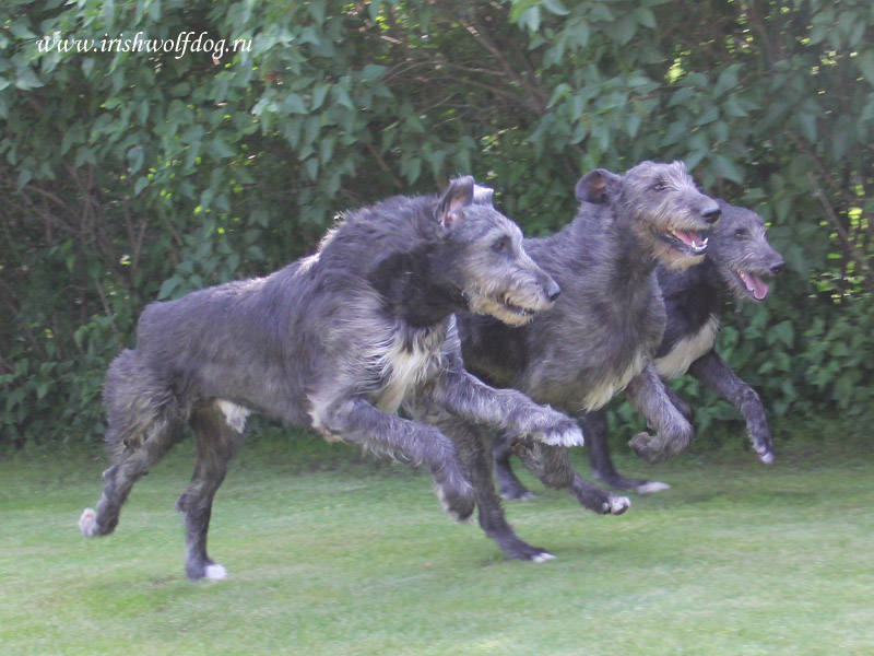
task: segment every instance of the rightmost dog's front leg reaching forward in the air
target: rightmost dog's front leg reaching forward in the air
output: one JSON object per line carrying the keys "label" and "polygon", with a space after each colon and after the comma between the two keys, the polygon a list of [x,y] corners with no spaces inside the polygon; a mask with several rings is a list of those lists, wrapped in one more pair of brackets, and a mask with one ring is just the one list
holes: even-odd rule
{"label": "rightmost dog's front leg reaching forward in the air", "polygon": [[741,380],[712,349],[692,363],[689,373],[737,408],[746,422],[749,440],[759,460],[766,465],[772,464],[771,431],[765,418],[765,406],[761,405],[756,390]]}

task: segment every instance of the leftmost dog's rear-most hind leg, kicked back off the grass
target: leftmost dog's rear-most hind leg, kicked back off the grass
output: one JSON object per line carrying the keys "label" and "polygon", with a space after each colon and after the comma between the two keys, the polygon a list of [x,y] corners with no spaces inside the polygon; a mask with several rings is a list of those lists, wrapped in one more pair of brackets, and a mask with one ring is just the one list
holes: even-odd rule
{"label": "leftmost dog's rear-most hind leg, kicked back off the grass", "polygon": [[103,473],[106,482],[97,509],[85,508],[79,518],[79,528],[88,538],[115,530],[131,488],[176,443],[179,427],[175,398],[139,366],[133,351],[113,362],[104,389],[113,466]]}

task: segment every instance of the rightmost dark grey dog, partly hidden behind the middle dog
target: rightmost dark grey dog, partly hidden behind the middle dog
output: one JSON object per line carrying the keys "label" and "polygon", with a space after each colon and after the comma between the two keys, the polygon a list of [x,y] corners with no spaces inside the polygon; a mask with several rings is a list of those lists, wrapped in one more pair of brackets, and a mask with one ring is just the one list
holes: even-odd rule
{"label": "rightmost dark grey dog, partly hidden behind the middle dog", "polygon": [[[654,364],[662,378],[692,374],[730,401],[746,422],[753,449],[763,462],[770,465],[773,443],[761,400],[719,356],[714,342],[729,301],[765,300],[769,291],[766,279],[783,270],[783,258],[768,243],[761,216],[722,200],[719,204],[722,218],[710,235],[704,263],[685,271],[661,267],[657,271],[668,325]],[[674,406],[692,420],[689,405],[668,389]],[[616,471],[607,447],[603,411],[588,414],[582,429],[597,479],[621,490],[647,492],[666,487],[658,481],[629,479]],[[504,471],[500,478],[510,495],[524,494],[524,488],[511,472]]]}

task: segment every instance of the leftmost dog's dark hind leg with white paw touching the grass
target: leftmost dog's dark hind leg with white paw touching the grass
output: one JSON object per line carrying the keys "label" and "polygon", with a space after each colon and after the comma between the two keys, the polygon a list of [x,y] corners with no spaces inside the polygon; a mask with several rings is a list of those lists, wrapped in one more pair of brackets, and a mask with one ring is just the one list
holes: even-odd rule
{"label": "leftmost dog's dark hind leg with white paw touching the grass", "polygon": [[212,501],[224,481],[227,466],[243,443],[246,412],[227,401],[200,403],[191,413],[197,441],[197,459],[191,483],[176,509],[185,518],[186,561],[189,578],[224,578],[225,569],[206,555],[206,532],[212,516]]}

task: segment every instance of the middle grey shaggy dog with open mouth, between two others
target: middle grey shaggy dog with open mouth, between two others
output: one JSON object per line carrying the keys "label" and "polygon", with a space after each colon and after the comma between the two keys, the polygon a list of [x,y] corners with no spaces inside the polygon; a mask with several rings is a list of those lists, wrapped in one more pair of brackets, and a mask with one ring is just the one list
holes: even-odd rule
{"label": "middle grey shaggy dog with open mouth, between two others", "polygon": [[[579,418],[627,386],[657,431],[652,437],[638,437],[636,450],[649,460],[678,453],[692,441],[693,429],[649,363],[665,324],[654,269],[659,262],[673,268],[700,262],[704,234],[719,219],[720,208],[697,189],[682,162],[643,162],[624,176],[593,171],[579,180],[576,195],[582,202],[572,223],[550,237],[524,242],[534,261],[562,286],[562,296],[553,309],[522,327],[460,315],[465,365],[488,384],[519,389]],[[460,431],[444,430],[450,435]],[[505,454],[512,445],[546,485],[568,489],[587,508],[621,514],[629,505],[577,475],[566,448],[536,444],[512,430],[499,432],[496,442]],[[470,459],[486,535],[510,558],[548,558],[507,524],[487,457],[474,454]]]}

